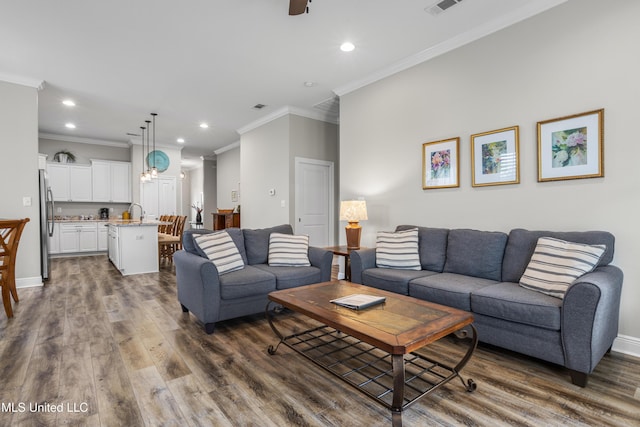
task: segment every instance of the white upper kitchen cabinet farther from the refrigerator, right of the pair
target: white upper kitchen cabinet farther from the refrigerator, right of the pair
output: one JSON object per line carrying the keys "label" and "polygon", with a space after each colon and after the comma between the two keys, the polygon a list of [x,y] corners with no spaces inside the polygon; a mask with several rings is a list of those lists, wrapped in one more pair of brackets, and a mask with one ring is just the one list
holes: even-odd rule
{"label": "white upper kitchen cabinet farther from the refrigerator, right of the pair", "polygon": [[131,203],[131,163],[91,160],[93,201]]}

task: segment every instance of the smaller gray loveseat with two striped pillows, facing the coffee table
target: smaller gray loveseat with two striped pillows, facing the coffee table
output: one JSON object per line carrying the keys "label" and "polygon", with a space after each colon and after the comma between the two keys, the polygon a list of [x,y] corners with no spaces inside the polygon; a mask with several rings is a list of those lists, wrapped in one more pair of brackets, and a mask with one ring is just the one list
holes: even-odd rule
{"label": "smaller gray loveseat with two striped pillows, facing the coffee table", "polygon": [[183,250],[174,254],[178,300],[184,312],[193,313],[208,334],[221,320],[264,312],[267,295],[331,278],[333,253],[309,247],[309,267],[272,267],[267,264],[271,233],[293,234],[290,225],[258,230],[228,228],[245,267],[223,275],[195,244],[194,234],[211,230],[188,230],[182,237]]}

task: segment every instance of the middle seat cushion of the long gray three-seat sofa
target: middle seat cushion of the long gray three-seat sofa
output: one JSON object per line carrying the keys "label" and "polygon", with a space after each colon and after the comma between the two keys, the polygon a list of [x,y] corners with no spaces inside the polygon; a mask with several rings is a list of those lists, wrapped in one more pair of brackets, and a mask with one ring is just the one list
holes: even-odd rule
{"label": "middle seat cushion of the long gray three-seat sofa", "polygon": [[436,304],[471,311],[471,294],[495,283],[497,283],[495,280],[441,273],[409,282],[409,295]]}

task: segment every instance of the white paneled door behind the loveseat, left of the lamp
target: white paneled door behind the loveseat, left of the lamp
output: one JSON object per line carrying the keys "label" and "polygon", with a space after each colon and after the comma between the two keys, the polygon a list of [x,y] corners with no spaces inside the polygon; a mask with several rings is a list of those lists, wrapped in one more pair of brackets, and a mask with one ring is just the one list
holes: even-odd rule
{"label": "white paneled door behind the loveseat, left of the lamp", "polygon": [[296,157],[296,234],[333,245],[333,162]]}

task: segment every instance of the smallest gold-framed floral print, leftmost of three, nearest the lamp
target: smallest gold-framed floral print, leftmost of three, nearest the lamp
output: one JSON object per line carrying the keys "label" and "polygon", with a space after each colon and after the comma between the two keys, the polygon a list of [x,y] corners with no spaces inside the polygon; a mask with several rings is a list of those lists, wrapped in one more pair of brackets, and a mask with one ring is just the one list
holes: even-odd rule
{"label": "smallest gold-framed floral print, leftmost of three, nearest the lamp", "polygon": [[460,138],[422,144],[422,188],[460,186]]}

